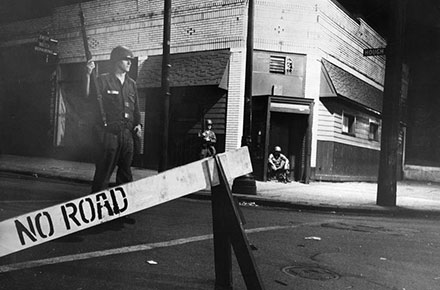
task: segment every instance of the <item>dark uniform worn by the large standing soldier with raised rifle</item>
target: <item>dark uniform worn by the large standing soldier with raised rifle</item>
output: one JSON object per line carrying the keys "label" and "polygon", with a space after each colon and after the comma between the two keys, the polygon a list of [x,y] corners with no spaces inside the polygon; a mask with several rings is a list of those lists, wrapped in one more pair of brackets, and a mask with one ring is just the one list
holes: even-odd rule
{"label": "dark uniform worn by the large standing soldier with raised rifle", "polygon": [[[122,51],[124,52],[124,51]],[[131,51],[127,51],[131,56]],[[131,164],[134,155],[133,129],[141,124],[136,82],[128,74],[124,83],[114,73],[98,77],[98,86],[102,95],[102,104],[107,126],[103,126],[102,114],[97,113],[95,126],[98,136],[98,152],[92,191],[108,187],[110,177],[118,166],[116,184],[133,181]]]}

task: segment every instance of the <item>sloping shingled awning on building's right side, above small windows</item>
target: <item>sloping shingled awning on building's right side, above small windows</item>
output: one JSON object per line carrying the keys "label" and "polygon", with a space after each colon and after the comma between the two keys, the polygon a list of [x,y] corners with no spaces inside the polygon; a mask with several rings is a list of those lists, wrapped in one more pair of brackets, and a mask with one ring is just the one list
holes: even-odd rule
{"label": "sloping shingled awning on building's right side, above small windows", "polygon": [[341,98],[382,112],[383,92],[342,68],[322,59],[321,98]]}

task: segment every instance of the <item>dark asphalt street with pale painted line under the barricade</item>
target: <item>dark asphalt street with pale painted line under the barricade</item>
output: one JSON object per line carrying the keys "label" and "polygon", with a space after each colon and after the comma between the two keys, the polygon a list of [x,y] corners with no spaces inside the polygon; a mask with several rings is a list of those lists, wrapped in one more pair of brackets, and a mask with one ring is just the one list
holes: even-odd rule
{"label": "dark asphalt street with pale painted line under the barricade", "polygon": [[[0,221],[88,192],[8,175]],[[240,207],[265,289],[440,289],[436,218]],[[178,199],[0,258],[0,289],[214,289],[209,200]],[[246,289],[233,259],[233,289]]]}

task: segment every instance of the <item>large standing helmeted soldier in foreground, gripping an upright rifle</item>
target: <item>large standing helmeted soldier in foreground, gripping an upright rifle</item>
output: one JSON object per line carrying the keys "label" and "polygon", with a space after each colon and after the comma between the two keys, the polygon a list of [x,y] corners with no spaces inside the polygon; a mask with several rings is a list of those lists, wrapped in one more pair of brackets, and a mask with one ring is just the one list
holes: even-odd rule
{"label": "large standing helmeted soldier in foreground, gripping an upright rifle", "polygon": [[[134,155],[134,137],[141,136],[142,125],[136,82],[128,76],[133,53],[125,46],[115,47],[110,55],[112,72],[102,74],[97,79],[96,135],[98,149],[92,192],[108,187],[110,177],[118,166],[116,185],[133,181],[131,164]],[[85,89],[90,95],[90,76],[95,64],[86,66]],[[135,135],[135,136],[133,136]]]}

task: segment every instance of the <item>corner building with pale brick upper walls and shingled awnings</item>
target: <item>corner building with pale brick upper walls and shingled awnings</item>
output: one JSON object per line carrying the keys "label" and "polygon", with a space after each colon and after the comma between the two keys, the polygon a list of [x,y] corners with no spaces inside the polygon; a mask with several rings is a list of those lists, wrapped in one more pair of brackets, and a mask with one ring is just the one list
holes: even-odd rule
{"label": "corner building with pale brick upper walls and shingled awnings", "polygon": [[[85,61],[80,3],[50,3],[43,15],[0,24],[0,61],[10,69],[0,79],[0,148],[5,154],[90,161],[93,116],[79,90]],[[138,84],[145,132],[135,165],[155,169],[163,111],[163,1],[86,1],[81,8],[99,73],[108,71],[116,45],[137,56],[130,75]],[[170,166],[197,158],[197,133],[208,118],[219,152],[241,145],[247,8],[244,0],[172,1]],[[365,57],[363,50],[385,47],[385,40],[331,0],[256,0],[254,24],[257,179],[266,180],[265,160],[279,145],[294,180],[376,180],[385,58]],[[34,49],[42,33],[58,41],[57,57]],[[12,59],[22,61],[17,66]]]}

